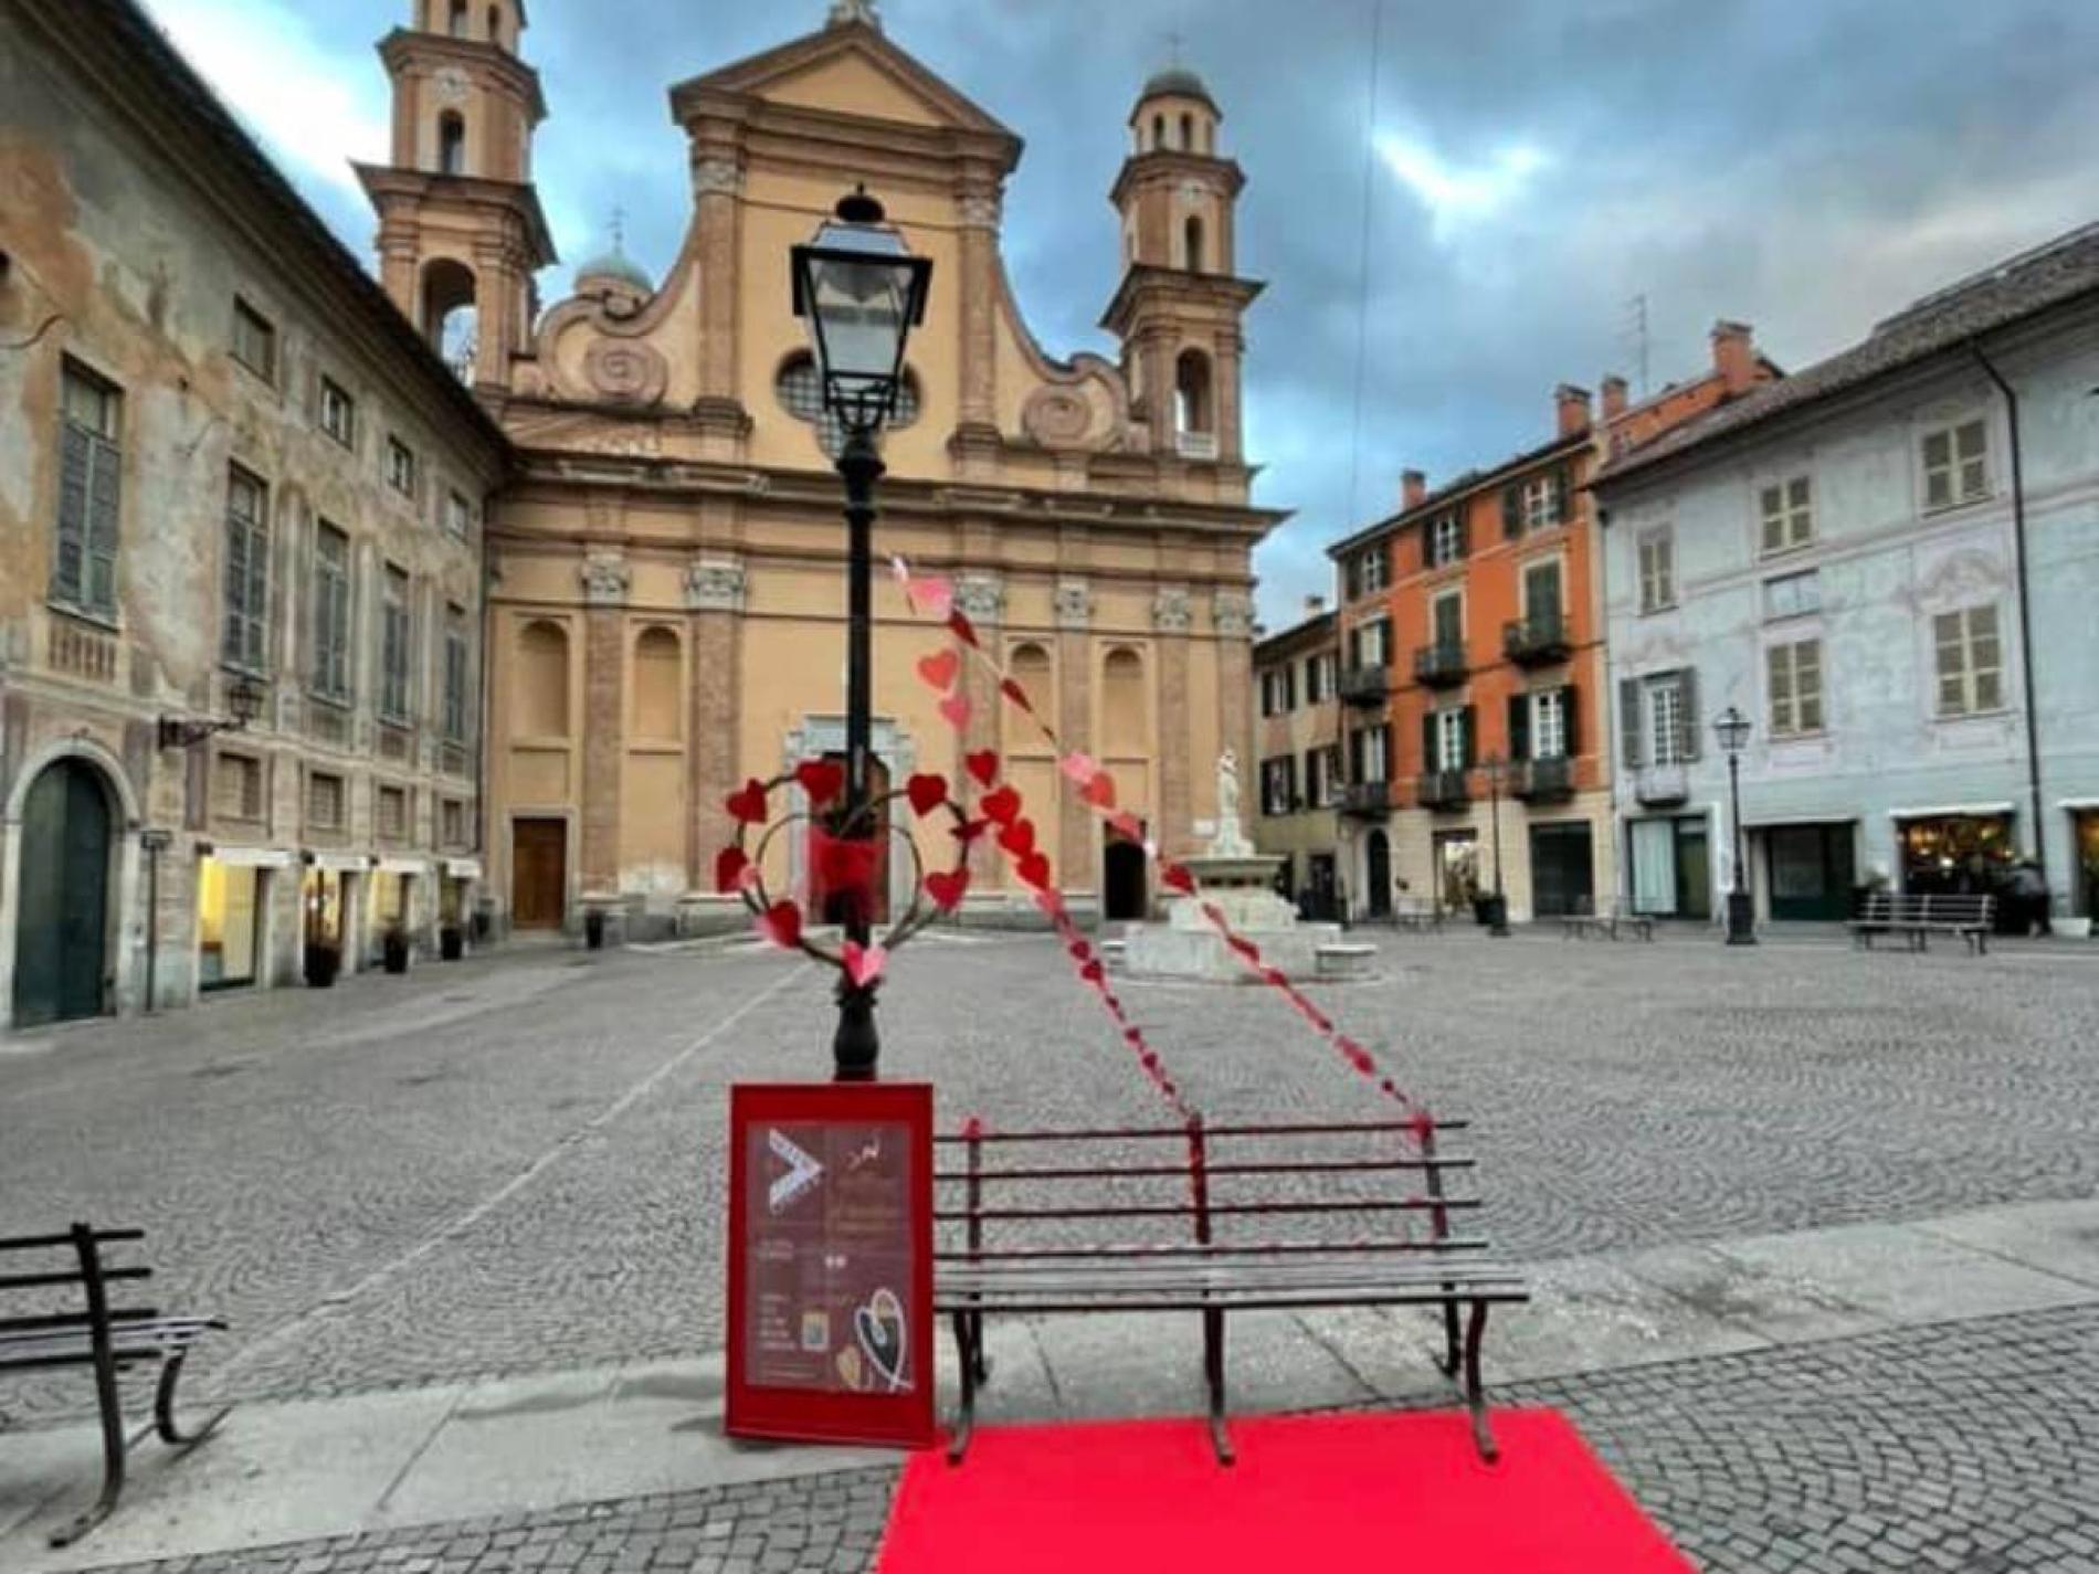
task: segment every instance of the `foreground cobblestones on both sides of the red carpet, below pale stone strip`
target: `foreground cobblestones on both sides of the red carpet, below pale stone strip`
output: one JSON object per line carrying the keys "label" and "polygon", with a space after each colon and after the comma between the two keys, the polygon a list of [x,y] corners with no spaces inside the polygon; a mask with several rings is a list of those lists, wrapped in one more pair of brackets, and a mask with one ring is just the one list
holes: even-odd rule
{"label": "foreground cobblestones on both sides of the red carpet, below pale stone strip", "polygon": [[[1713,1574],[2099,1570],[2099,1310],[1509,1385]],[[153,1574],[873,1566],[892,1471],[185,1559]],[[145,1574],[141,1568],[139,1574]]]}

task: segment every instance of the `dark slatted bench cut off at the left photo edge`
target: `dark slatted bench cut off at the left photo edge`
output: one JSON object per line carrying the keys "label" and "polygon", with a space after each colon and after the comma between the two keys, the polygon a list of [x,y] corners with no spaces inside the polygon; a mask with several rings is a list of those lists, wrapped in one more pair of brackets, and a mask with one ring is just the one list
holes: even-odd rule
{"label": "dark slatted bench cut off at the left photo edge", "polygon": [[[225,1328],[222,1318],[176,1318],[155,1307],[115,1307],[109,1286],[145,1280],[151,1268],[109,1268],[103,1247],[143,1240],[143,1230],[92,1230],[76,1224],[65,1234],[17,1236],[0,1240],[0,1265],[23,1263],[23,1272],[0,1274],[0,1293],[21,1293],[10,1305],[34,1307],[0,1318],[0,1373],[42,1370],[52,1366],[92,1366],[94,1398],[103,1417],[103,1494],[92,1509],[52,1532],[52,1547],[67,1547],[94,1530],[118,1507],[124,1492],[124,1404],[118,1398],[118,1373],[126,1366],[160,1362],[160,1385],[153,1391],[153,1427],[162,1442],[191,1448],[204,1442],[225,1419],[212,1415],[195,1431],[174,1423],[174,1385],[191,1345],[208,1328]],[[71,1259],[55,1259],[69,1251]],[[61,1293],[80,1286],[82,1310],[55,1310]],[[31,1295],[36,1293],[36,1295]]]}

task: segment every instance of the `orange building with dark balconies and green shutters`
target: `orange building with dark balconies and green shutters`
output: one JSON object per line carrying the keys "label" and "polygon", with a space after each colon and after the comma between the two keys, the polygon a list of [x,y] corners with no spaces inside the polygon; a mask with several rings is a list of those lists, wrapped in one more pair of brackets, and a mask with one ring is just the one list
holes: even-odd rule
{"label": "orange building with dark balconies and green shutters", "polygon": [[1341,579],[1341,869],[1360,917],[1394,902],[1515,919],[1616,890],[1604,554],[1589,474],[1608,455],[1776,378],[1742,323],[1713,367],[1633,405],[1555,392],[1539,447],[1429,491],[1329,548]]}

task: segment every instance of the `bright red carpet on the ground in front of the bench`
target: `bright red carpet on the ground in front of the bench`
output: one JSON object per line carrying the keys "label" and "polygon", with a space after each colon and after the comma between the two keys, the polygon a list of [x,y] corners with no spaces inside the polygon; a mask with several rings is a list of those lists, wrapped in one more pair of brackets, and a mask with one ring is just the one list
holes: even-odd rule
{"label": "bright red carpet on the ground in front of the bench", "polygon": [[1690,1574],[1581,1433],[1497,1410],[1501,1463],[1463,1415],[982,1427],[951,1467],[905,1469],[879,1574]]}

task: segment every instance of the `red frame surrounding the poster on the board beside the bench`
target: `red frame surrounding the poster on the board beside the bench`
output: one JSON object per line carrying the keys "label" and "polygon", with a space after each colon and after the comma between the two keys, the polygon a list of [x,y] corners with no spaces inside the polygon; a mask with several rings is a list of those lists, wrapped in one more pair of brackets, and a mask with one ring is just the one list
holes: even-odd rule
{"label": "red frame surrounding the poster on the board beside the bench", "polygon": [[[762,1125],[900,1125],[909,1146],[907,1213],[911,1282],[907,1286],[905,1352],[909,1394],[827,1394],[751,1381],[749,1217],[754,1190],[749,1135]],[[932,1448],[934,1310],[932,1310],[932,1083],[735,1083],[728,1089],[728,1375],[722,1429],[733,1438],[779,1442],[871,1444]],[[760,1209],[762,1213],[762,1209]]]}

